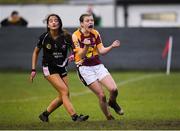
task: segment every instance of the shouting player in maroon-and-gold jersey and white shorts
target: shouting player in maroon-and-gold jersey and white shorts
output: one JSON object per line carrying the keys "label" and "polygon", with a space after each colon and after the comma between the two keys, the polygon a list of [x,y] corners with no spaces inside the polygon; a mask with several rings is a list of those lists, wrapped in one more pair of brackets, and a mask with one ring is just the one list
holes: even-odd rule
{"label": "shouting player in maroon-and-gold jersey and white shorts", "polygon": [[[110,46],[104,47],[100,34],[94,27],[94,19],[91,14],[82,14],[79,18],[80,28],[73,35],[75,63],[77,65],[79,77],[82,82],[89,87],[99,99],[102,112],[107,120],[112,120],[108,105],[119,115],[123,115],[122,108],[117,104],[118,89],[112,76],[99,59],[99,54],[106,54],[113,48],[120,46],[120,41],[115,40]],[[109,101],[102,85],[110,93]]]}

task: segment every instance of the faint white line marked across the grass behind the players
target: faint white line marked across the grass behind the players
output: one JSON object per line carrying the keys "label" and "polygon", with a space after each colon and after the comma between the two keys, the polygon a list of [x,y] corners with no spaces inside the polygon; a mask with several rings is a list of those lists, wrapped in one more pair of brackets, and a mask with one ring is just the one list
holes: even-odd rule
{"label": "faint white line marked across the grass behind the players", "polygon": [[[143,75],[140,77],[136,77],[136,78],[132,78],[126,81],[121,81],[117,83],[117,86],[123,86],[129,83],[134,83],[137,81],[141,81],[144,79],[148,79],[148,78],[152,78],[152,77],[159,77],[162,76],[163,74],[148,74],[148,75]],[[87,90],[83,91],[83,92],[79,92],[79,93],[70,93],[71,96],[81,96],[81,95],[85,95],[85,94],[89,94],[91,91],[87,88]],[[45,97],[31,97],[31,98],[24,98],[24,99],[16,99],[16,100],[0,100],[0,103],[15,103],[15,102],[28,102],[28,101],[32,101],[32,100],[38,100],[38,99],[43,99]]]}

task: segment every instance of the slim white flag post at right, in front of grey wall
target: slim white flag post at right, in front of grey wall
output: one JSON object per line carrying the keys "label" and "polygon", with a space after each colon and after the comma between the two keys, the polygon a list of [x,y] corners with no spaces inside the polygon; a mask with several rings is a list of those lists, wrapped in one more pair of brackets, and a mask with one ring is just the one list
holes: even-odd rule
{"label": "slim white flag post at right, in front of grey wall", "polygon": [[168,51],[168,57],[167,57],[167,67],[166,67],[166,74],[170,74],[171,69],[171,56],[172,56],[172,45],[173,45],[173,37],[169,37],[169,51]]}

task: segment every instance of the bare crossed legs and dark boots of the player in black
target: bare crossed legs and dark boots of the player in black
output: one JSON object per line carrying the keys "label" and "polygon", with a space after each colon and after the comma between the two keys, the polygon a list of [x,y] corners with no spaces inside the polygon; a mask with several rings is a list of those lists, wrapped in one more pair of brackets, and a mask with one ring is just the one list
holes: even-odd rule
{"label": "bare crossed legs and dark boots of the player in black", "polygon": [[46,79],[54,86],[54,88],[58,91],[59,97],[56,97],[48,106],[47,111],[40,114],[39,118],[43,122],[48,122],[48,116],[51,112],[57,109],[60,105],[64,105],[67,112],[71,115],[73,121],[86,121],[89,116],[88,115],[80,115],[78,116],[74,110],[73,105],[69,99],[69,89],[68,89],[68,80],[67,76],[61,78],[58,74],[53,74],[47,76]]}

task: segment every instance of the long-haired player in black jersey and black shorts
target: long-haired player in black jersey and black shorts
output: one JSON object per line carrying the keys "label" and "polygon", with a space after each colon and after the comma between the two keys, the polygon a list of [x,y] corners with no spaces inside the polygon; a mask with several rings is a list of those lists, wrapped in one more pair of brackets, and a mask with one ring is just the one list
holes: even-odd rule
{"label": "long-haired player in black jersey and black shorts", "polygon": [[45,78],[58,91],[59,95],[39,115],[40,120],[48,122],[48,116],[59,106],[64,105],[73,121],[86,121],[88,115],[77,115],[69,98],[66,66],[68,50],[71,47],[71,35],[62,29],[62,21],[56,14],[47,17],[47,32],[40,36],[32,55],[32,71],[30,80],[36,76],[36,64],[39,52],[43,49],[43,73]]}

